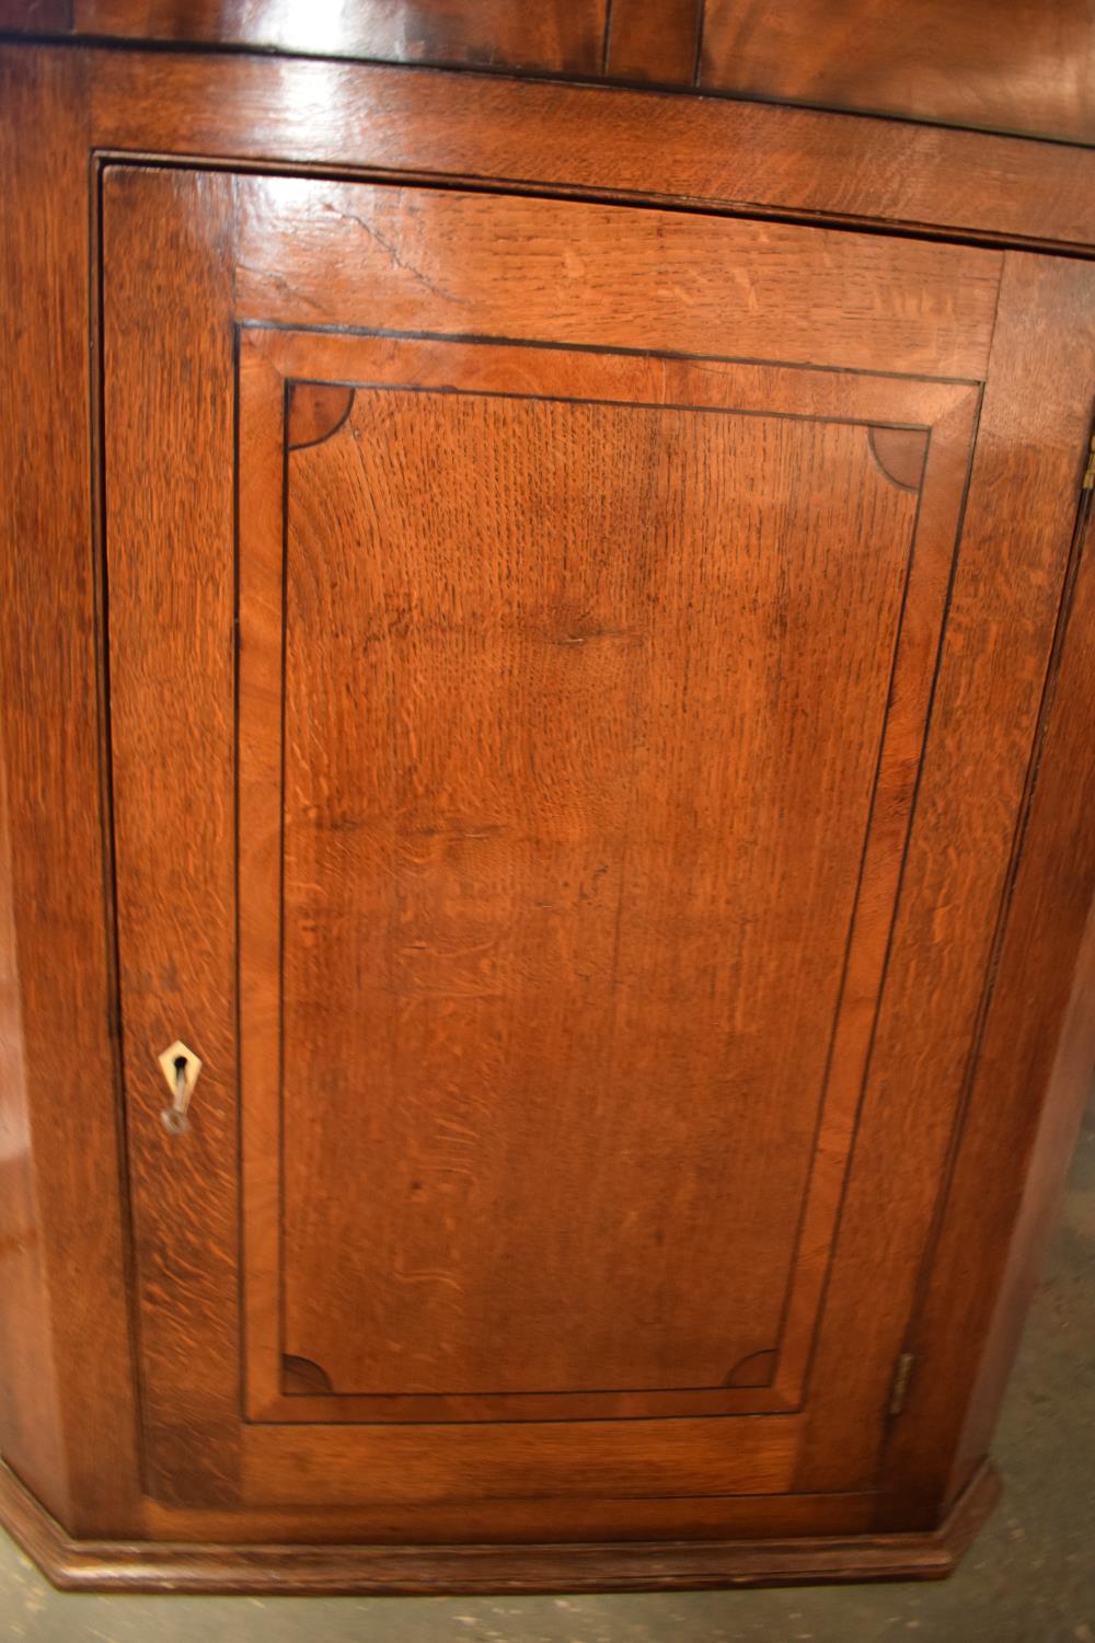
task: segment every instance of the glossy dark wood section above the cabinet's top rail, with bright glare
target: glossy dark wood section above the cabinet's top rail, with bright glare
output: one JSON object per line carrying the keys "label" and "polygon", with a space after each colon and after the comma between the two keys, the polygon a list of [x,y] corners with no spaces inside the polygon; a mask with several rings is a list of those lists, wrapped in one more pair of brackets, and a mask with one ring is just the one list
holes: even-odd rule
{"label": "glossy dark wood section above the cabinet's top rail, with bright glare", "polygon": [[1095,141],[1088,0],[0,0],[0,28],[647,81]]}

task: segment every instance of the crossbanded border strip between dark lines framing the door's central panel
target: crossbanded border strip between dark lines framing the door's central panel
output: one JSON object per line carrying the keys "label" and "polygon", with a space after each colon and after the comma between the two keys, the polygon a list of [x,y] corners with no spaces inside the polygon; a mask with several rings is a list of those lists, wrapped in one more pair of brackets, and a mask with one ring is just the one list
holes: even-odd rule
{"label": "crossbanded border strip between dark lines framing the door's central panel", "polygon": [[[565,348],[455,343],[384,332],[309,332],[246,325],[240,358],[240,1099],[243,1104],[245,1249],[248,1272],[248,1413],[271,1421],[594,1418],[607,1415],[780,1413],[801,1410],[829,1273],[832,1227],[854,1145],[859,1089],[872,1033],[900,869],[911,820],[909,769],[918,762],[934,675],[936,637],[944,621],[954,564],[959,508],[969,470],[980,389],[974,384],[903,380],[852,371],[809,371],[731,365],[711,360],[642,360],[611,352],[581,355]],[[425,389],[453,383],[450,357],[460,352],[460,381],[488,391],[507,376],[522,393],[575,396],[575,378],[599,403],[642,401],[742,414],[808,416],[857,421],[873,429],[923,427],[929,439],[928,476],[919,493],[903,596],[903,618],[890,683],[891,713],[878,749],[877,787],[864,840],[860,882],[847,932],[845,978],[837,1004],[826,1070],[826,1096],[811,1181],[798,1229],[798,1254],[785,1298],[778,1351],[767,1375],[739,1387],[667,1393],[506,1393],[473,1397],[286,1395],[281,1377],[281,1301],[277,1285],[281,1203],[279,1065],[284,1045],[281,1009],[266,976],[277,971],[282,943],[281,874],[271,838],[279,835],[281,720],[271,679],[282,669],[282,531],[286,518],[287,388],[307,383],[412,383]],[[872,447],[873,449],[873,447]],[[891,481],[893,483],[893,481]],[[254,841],[254,843],[250,843]],[[875,909],[878,914],[875,915]],[[251,979],[254,978],[254,979]],[[279,1211],[281,1216],[281,1211]]]}

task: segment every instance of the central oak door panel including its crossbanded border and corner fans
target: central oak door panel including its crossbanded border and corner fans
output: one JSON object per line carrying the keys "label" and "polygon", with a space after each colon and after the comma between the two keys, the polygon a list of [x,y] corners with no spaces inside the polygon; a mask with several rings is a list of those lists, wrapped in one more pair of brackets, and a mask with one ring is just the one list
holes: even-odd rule
{"label": "central oak door panel including its crossbanded border and corner fans", "polygon": [[253,329],[241,391],[253,1413],[790,1406],[974,393]]}

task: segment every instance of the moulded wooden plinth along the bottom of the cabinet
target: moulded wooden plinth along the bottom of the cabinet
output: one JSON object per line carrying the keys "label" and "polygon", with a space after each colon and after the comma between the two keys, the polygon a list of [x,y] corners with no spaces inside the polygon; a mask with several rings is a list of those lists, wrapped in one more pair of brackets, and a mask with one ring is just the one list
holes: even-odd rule
{"label": "moulded wooden plinth along the bottom of the cabinet", "polygon": [[1000,1495],[985,1462],[936,1530],[813,1539],[300,1546],[76,1539],[0,1466],[0,1525],[61,1590],[236,1594],[653,1592],[941,1581]]}

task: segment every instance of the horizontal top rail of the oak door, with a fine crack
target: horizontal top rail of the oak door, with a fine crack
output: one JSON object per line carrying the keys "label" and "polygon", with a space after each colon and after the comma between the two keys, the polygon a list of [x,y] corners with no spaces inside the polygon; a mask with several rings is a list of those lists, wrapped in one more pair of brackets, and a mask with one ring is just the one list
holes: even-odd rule
{"label": "horizontal top rail of the oak door, with a fine crack", "polygon": [[970,380],[988,358],[995,251],[292,177],[236,199],[241,319]]}

